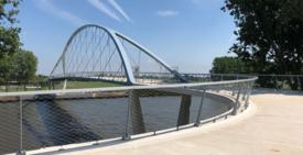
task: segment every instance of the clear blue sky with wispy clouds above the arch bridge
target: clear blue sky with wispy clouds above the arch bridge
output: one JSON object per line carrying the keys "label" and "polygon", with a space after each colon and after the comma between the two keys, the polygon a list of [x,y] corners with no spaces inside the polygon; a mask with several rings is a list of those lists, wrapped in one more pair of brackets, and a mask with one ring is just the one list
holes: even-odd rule
{"label": "clear blue sky with wispy clouds above the arch bridge", "polygon": [[101,24],[141,43],[181,71],[208,73],[213,58],[235,42],[224,0],[24,0],[21,42],[48,75],[69,35],[80,25]]}

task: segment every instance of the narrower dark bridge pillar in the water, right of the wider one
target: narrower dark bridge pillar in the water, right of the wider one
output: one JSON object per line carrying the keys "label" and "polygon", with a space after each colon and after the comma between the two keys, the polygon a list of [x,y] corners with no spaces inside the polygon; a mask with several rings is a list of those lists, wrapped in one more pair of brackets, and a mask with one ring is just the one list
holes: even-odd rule
{"label": "narrower dark bridge pillar in the water, right of the wider one", "polygon": [[181,106],[178,110],[177,126],[186,125],[190,123],[190,108],[192,102],[192,96],[183,95],[181,99]]}

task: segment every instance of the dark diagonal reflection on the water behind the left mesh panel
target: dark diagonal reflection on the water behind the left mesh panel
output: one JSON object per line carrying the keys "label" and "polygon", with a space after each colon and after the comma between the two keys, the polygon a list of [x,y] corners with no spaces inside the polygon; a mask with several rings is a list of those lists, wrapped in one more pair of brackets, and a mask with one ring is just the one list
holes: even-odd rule
{"label": "dark diagonal reflection on the water behind the left mesh panel", "polygon": [[[46,100],[45,96],[37,98],[39,101],[35,102],[35,107],[37,114],[42,118],[42,124],[46,129],[47,136],[44,137],[46,143],[51,142],[54,145],[64,145],[101,139],[68,113],[68,111],[61,108],[59,101],[55,101],[50,96],[46,97]],[[39,136],[36,133],[39,132],[34,132],[33,134]]]}

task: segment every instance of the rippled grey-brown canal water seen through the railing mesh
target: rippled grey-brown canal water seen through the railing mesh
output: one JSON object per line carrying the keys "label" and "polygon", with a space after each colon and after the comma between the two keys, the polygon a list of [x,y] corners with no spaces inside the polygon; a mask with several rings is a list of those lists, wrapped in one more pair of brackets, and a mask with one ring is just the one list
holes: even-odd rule
{"label": "rippled grey-brown canal water seen through the railing mesh", "polygon": [[[190,122],[194,123],[201,98],[193,97]],[[141,97],[147,132],[176,126],[181,97]],[[121,137],[126,130],[128,98],[42,100],[23,102],[24,150]],[[202,117],[228,110],[228,104],[206,98]],[[20,146],[19,102],[0,103],[0,154]]]}

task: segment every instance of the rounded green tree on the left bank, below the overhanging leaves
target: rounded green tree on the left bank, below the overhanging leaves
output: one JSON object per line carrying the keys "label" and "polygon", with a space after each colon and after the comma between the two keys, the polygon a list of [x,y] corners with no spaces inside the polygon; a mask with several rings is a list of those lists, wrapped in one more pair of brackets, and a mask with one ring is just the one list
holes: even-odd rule
{"label": "rounded green tree on the left bank, below the overhanging leaves", "polygon": [[11,79],[29,82],[35,79],[37,58],[30,51],[19,51],[12,56]]}

